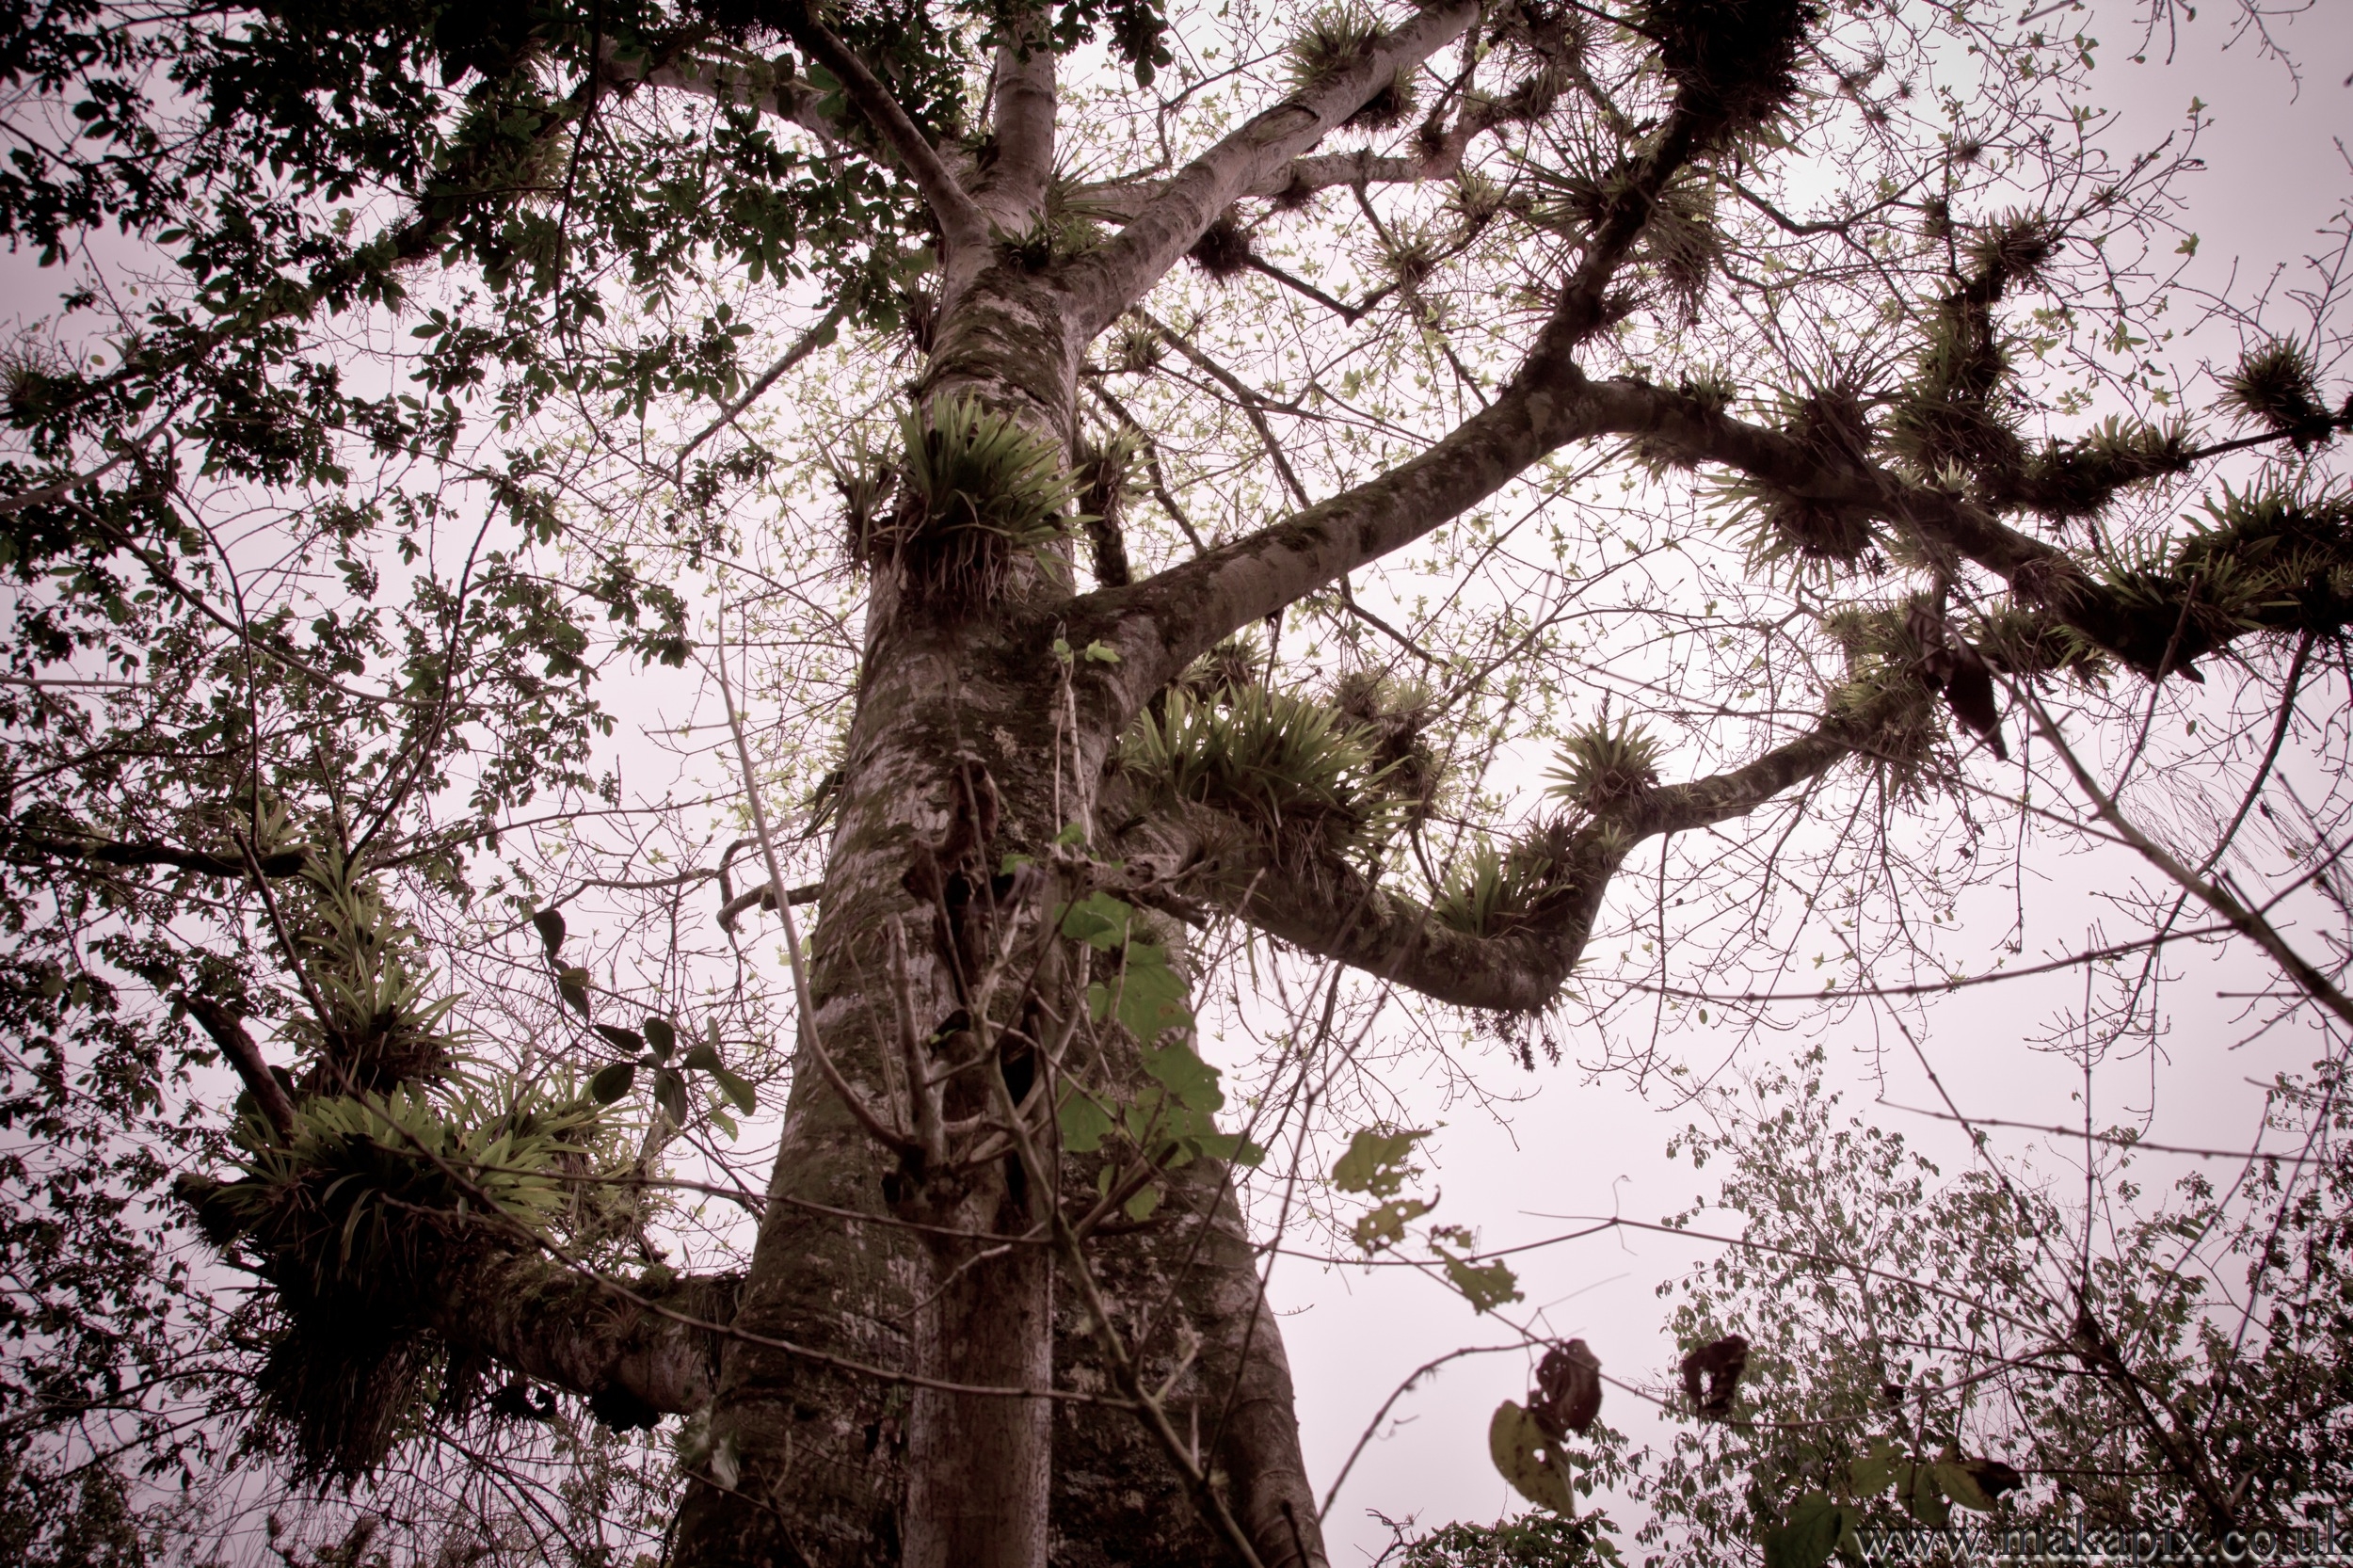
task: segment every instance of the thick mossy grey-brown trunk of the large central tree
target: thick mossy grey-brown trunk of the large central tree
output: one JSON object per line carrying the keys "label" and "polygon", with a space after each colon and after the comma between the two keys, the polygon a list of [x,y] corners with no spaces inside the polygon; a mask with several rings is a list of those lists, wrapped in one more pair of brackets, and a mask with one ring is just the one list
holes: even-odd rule
{"label": "thick mossy grey-brown trunk of the large central tree", "polygon": [[[1078,353],[1064,301],[1000,264],[948,301],[920,388],[976,396],[1068,443]],[[1115,737],[1056,735],[1068,706],[1047,645],[1052,600],[1066,591],[1054,572],[1031,572],[1007,603],[936,607],[875,584],[809,982],[816,1038],[885,1116],[906,1104],[899,1031],[932,1043],[960,1031],[960,946],[1012,942],[1049,913],[1033,899],[1040,906],[998,911],[991,930],[974,904],[955,918],[946,906],[974,895],[1005,852],[1035,855],[1066,822],[1092,819]],[[993,793],[993,822],[972,822],[974,779]],[[974,871],[960,890],[951,855]],[[951,881],[948,899],[920,897],[927,857]],[[1075,991],[1080,979],[1045,984]],[[986,1071],[1021,1092],[1014,1064]],[[967,1071],[946,1092],[948,1116],[969,1116],[993,1090]],[[1064,1189],[1092,1198],[1092,1163],[1078,1165]],[[1042,1396],[1106,1387],[1080,1314],[1056,1318],[1042,1212],[1012,1156],[948,1177],[878,1144],[805,1038],[739,1337],[720,1356],[715,1464],[689,1488],[675,1561],[1075,1568],[1224,1556],[1132,1413],[1066,1403],[1056,1420]],[[1096,1253],[1127,1316],[1120,1328],[1134,1335],[1153,1318],[1141,1356],[1158,1377],[1198,1347],[1174,1398],[1198,1420],[1228,1504],[1266,1544],[1261,1559],[1304,1561],[1315,1526],[1289,1375],[1226,1172],[1207,1161],[1181,1172],[1153,1227]],[[809,1351],[1033,1394],[894,1384]]]}

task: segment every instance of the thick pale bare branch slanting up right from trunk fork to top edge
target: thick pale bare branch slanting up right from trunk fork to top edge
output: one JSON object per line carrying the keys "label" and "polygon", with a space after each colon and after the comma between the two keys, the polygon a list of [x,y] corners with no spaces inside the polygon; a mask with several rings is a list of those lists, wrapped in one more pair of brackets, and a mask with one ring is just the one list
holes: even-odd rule
{"label": "thick pale bare branch slanting up right from trunk fork to top edge", "polygon": [[1064,283],[1078,337],[1096,337],[1144,299],[1235,198],[1278,181],[1278,191],[1289,184],[1289,162],[1299,153],[1362,108],[1398,71],[1461,38],[1478,14],[1478,5],[1459,0],[1419,12],[1322,87],[1285,99],[1186,165],[1115,238],[1071,261]]}

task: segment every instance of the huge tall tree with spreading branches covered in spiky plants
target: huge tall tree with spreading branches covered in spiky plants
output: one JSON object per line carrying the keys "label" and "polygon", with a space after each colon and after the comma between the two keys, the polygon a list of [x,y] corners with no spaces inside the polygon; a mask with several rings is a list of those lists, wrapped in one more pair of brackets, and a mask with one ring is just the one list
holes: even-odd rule
{"label": "huge tall tree with spreading branches covered in spiky plants", "polygon": [[[1217,932],[1334,965],[1292,1102],[1346,1067],[1341,965],[1534,1062],[1635,857],[1664,904],[1668,841],[1831,810],[1894,866],[1892,812],[2000,793],[2028,735],[2071,777],[2068,723],[2129,732],[2125,692],[2228,669],[2292,711],[2353,610],[2329,299],[2297,339],[2249,315],[2181,412],[2132,353],[2186,153],[2101,146],[2078,31],[1817,0],[5,28],[0,231],[87,268],[5,386],[19,1114],[78,1151],[66,1191],[179,1151],[261,1285],[224,1328],[256,1441],[313,1476],[546,1415],[536,1382],[694,1417],[682,1563],[1322,1561],[1235,1189],[1285,1123],[1195,1050]],[[802,365],[833,379],[798,426],[746,436]],[[795,645],[849,659],[779,732]],[[1565,716],[1579,650],[1617,718]],[[631,659],[718,695],[729,848],[626,796],[595,678]],[[1464,760],[1555,735],[1553,805],[1466,841]],[[814,786],[791,819],[779,777]],[[1788,878],[1746,843],[1711,899]],[[1955,878],[1892,869],[1859,963],[1925,954],[1904,902]],[[711,982],[682,911],[713,888],[729,932],[784,923],[788,996]],[[565,918],[584,892],[635,899],[626,954]],[[779,1034],[765,1189],[706,1184],[755,1245],[673,1269],[647,1194],[758,1107]],[[235,1125],[181,1116],[209,1062]],[[1367,1248],[1421,1217],[1409,1149],[1367,1125],[1337,1172],[1386,1201]],[[73,1318],[134,1274],[42,1278]],[[139,1408],[120,1356],[40,1373],[45,1420]]]}

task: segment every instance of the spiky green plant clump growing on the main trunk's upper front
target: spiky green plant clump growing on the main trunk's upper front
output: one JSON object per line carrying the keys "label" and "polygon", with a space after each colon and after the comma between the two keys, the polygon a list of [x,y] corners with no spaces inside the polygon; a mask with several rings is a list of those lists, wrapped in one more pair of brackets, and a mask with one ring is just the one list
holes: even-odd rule
{"label": "spiky green plant clump growing on the main trunk's upper front", "polygon": [[911,407],[899,436],[899,504],[866,532],[866,565],[960,605],[1000,598],[1019,558],[1066,574],[1056,546],[1085,518],[1059,440],[962,393]]}

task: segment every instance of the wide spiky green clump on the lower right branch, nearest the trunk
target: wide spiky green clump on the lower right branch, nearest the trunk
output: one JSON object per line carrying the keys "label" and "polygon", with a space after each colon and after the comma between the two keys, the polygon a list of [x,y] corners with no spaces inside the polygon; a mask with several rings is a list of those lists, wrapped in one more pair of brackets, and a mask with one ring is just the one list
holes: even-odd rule
{"label": "wide spiky green clump on the lower right branch, nearest the trunk", "polygon": [[1264,685],[1198,702],[1179,687],[1127,732],[1122,763],[1165,796],[1214,805],[1282,852],[1339,855],[1381,841],[1395,815],[1358,725]]}

